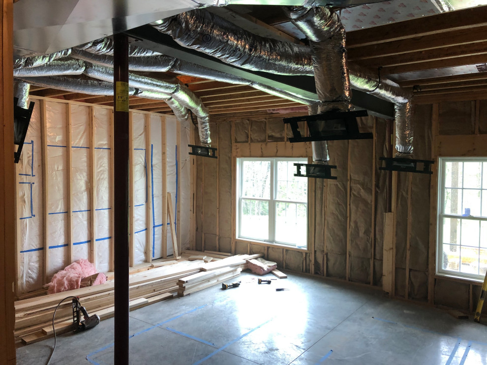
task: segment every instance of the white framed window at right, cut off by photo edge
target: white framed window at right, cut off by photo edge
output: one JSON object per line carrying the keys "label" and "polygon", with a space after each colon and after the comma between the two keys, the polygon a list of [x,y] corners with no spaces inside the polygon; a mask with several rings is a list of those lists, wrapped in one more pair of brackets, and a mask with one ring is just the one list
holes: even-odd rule
{"label": "white framed window at right, cut off by photo edge", "polygon": [[487,271],[487,158],[439,159],[437,274]]}

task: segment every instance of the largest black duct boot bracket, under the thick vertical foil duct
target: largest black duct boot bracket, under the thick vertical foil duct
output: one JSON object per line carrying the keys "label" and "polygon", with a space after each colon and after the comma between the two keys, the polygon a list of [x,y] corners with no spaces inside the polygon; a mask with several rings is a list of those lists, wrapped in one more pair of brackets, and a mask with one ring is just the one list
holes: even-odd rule
{"label": "largest black duct boot bracket, under the thick vertical foil duct", "polygon": [[[282,121],[291,125],[293,138],[289,142],[338,141],[351,139],[372,139],[373,133],[360,133],[358,117],[366,117],[366,110],[354,112],[329,111],[322,114],[285,118]],[[309,137],[303,137],[298,122],[306,122]]]}

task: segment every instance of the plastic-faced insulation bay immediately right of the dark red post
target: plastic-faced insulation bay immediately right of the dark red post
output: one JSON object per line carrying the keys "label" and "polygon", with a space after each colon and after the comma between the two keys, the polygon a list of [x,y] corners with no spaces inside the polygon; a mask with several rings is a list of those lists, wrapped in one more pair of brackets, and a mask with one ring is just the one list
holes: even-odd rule
{"label": "plastic-faced insulation bay immediately right of the dark red post", "polygon": [[145,261],[147,224],[147,165],[145,115],[132,114],[133,124],[133,202],[134,202],[134,263]]}

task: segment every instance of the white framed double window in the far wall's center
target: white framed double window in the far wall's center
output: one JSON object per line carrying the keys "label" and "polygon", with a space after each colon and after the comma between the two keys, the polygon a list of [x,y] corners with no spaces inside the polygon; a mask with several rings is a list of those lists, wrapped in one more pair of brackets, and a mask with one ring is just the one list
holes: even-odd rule
{"label": "white framed double window in the far wall's center", "polygon": [[237,238],[307,247],[305,158],[237,158]]}

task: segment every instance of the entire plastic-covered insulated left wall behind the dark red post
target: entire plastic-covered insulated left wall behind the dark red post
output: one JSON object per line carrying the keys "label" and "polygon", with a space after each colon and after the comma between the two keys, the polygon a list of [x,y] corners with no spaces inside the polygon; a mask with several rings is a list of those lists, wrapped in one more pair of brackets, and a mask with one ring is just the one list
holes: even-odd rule
{"label": "entire plastic-covered insulated left wall behind the dark red post", "polygon": [[[112,110],[99,106],[45,100],[45,113],[41,115],[41,101],[33,101],[35,107],[20,163],[17,165],[19,293],[39,289],[45,284],[45,249],[48,249],[49,280],[53,274],[80,258],[94,261],[99,272],[109,271],[110,248],[113,244]],[[146,122],[149,121],[151,141],[149,151],[146,151]],[[68,122],[71,123],[70,128]],[[152,258],[156,259],[173,252],[169,219],[163,216],[166,211],[166,199],[163,195],[166,189],[172,196],[175,222],[178,220],[178,214],[181,214],[181,211],[177,212],[178,200],[182,199],[180,203],[184,212],[180,217],[181,225],[189,227],[190,166],[187,148],[183,149],[183,153],[178,150],[179,123],[174,117],[132,112],[132,123],[132,232],[134,263],[139,264],[146,261],[148,239]],[[46,128],[45,146],[42,145],[41,139],[43,124]],[[181,140],[183,146],[187,146],[189,125],[182,126]],[[165,153],[161,146],[165,146]],[[44,161],[47,167],[45,177],[42,171],[44,153],[47,156],[47,160]],[[178,175],[180,171],[181,178]],[[47,195],[46,206],[43,205],[43,186]],[[179,196],[180,189],[184,190],[182,197]],[[148,204],[153,207],[152,216],[149,217]],[[43,217],[44,212],[46,217]],[[69,217],[71,228],[68,226]],[[46,231],[43,228],[44,218],[47,220]],[[162,252],[163,227],[167,228],[166,253]],[[179,235],[179,227],[176,229]],[[186,228],[181,235],[183,247],[188,247],[189,230]],[[47,240],[47,247],[44,246],[44,238]],[[71,262],[68,262],[69,249],[72,252]],[[94,251],[93,258],[91,250]]]}

